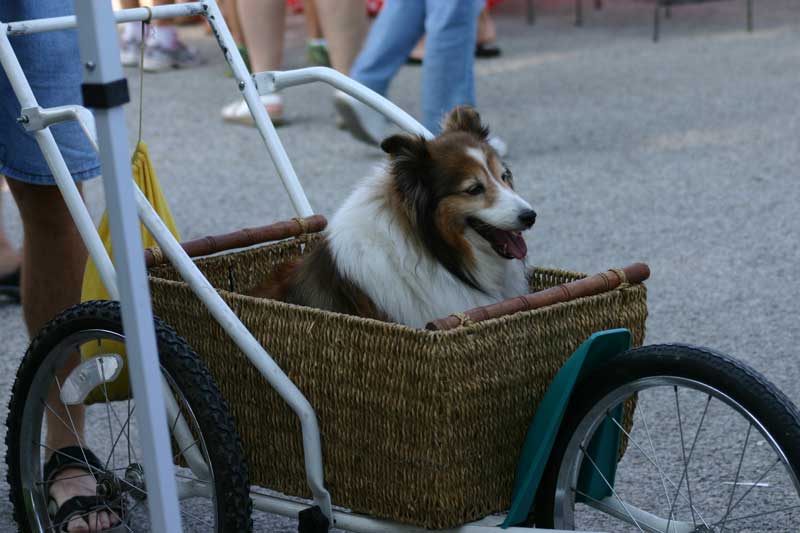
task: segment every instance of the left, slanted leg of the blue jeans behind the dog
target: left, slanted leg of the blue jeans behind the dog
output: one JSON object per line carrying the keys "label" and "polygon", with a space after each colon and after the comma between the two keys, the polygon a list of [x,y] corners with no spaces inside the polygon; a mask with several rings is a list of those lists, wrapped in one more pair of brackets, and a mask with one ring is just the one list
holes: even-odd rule
{"label": "left, slanted leg of the blue jeans behind the dog", "polygon": [[392,78],[422,37],[424,25],[423,0],[386,2],[350,69],[350,77],[385,95]]}

